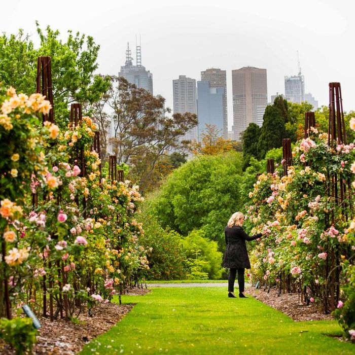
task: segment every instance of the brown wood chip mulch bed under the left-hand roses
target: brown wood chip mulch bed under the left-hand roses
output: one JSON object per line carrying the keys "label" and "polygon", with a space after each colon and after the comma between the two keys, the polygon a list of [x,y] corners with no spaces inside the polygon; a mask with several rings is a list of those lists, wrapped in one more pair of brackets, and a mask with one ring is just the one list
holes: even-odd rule
{"label": "brown wood chip mulch bed under the left-hand roses", "polygon": [[[145,295],[148,289],[130,289],[128,295]],[[134,304],[100,303],[93,310],[93,317],[87,310],[78,317],[78,323],[66,322],[63,319],[50,322],[48,318],[39,317],[42,327],[39,329],[37,343],[31,353],[35,355],[73,355],[80,351],[85,343],[98,335],[107,332],[133,308]],[[13,355],[10,349],[0,340],[0,354]]]}

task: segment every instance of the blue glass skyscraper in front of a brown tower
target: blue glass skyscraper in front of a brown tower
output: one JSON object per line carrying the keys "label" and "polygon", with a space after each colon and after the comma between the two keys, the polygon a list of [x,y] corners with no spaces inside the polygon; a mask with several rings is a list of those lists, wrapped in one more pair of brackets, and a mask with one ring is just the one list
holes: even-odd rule
{"label": "blue glass skyscraper in front of a brown tower", "polygon": [[224,97],[225,94],[223,87],[211,88],[208,81],[197,82],[197,117],[199,141],[201,140],[201,133],[206,129],[206,124],[215,125],[217,129],[223,133],[225,118]]}

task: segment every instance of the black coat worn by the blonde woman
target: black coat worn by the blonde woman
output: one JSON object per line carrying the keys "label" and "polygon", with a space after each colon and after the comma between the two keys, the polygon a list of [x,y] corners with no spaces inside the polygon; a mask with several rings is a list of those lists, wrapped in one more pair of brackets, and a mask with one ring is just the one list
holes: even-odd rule
{"label": "black coat worn by the blonde woman", "polygon": [[250,269],[250,261],[246,251],[245,240],[251,241],[262,236],[261,233],[248,236],[239,226],[228,227],[224,230],[226,239],[226,251],[224,253],[223,266],[236,269]]}

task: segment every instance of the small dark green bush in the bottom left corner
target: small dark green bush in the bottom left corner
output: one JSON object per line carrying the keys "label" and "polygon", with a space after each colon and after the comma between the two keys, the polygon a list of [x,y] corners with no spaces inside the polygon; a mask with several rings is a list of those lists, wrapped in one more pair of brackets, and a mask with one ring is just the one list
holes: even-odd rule
{"label": "small dark green bush in the bottom left corner", "polygon": [[0,319],[0,339],[11,345],[18,355],[31,351],[37,334],[31,318]]}

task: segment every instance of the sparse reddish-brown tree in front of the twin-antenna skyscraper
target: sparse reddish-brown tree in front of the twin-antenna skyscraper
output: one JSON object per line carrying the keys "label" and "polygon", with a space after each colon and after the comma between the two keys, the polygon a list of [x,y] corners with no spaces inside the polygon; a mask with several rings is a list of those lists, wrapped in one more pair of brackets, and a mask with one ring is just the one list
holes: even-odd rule
{"label": "sparse reddish-brown tree in front of the twin-antenna skyscraper", "polygon": [[165,117],[170,110],[162,112],[163,97],[154,97],[123,77],[111,77],[108,95],[114,154],[119,164],[130,165],[130,179],[145,190],[159,158],[182,147],[179,138],[197,125],[197,117],[191,113]]}

